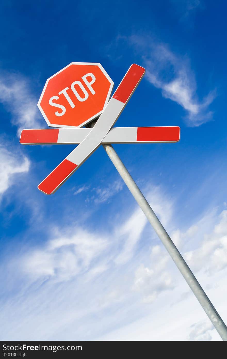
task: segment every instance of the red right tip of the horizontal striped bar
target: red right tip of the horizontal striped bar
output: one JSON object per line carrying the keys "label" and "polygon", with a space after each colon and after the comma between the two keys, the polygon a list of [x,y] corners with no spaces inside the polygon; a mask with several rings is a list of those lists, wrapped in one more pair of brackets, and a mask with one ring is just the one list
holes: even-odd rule
{"label": "red right tip of the horizontal striped bar", "polygon": [[138,127],[138,142],[177,142],[180,140],[180,127]]}

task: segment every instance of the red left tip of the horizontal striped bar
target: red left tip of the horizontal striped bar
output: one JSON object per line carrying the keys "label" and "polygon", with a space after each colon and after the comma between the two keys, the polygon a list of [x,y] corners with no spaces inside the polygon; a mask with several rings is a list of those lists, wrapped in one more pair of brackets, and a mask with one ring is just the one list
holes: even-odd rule
{"label": "red left tip of the horizontal striped bar", "polygon": [[57,143],[59,129],[22,130],[20,143]]}

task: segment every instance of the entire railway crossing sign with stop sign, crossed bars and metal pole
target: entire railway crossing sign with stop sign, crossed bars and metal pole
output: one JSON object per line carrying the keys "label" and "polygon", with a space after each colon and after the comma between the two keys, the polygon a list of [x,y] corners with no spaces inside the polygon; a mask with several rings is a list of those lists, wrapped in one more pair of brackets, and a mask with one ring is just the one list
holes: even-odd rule
{"label": "entire railway crossing sign with stop sign, crossed bars and metal pole", "polygon": [[[72,62],[47,80],[38,102],[48,126],[59,128],[23,130],[20,143],[78,144],[39,183],[39,190],[48,195],[54,193],[102,144],[208,318],[221,338],[227,341],[225,323],[111,145],[178,142],[180,139],[178,126],[113,127],[144,74],[143,67],[131,65],[110,98],[113,81],[100,64]],[[81,128],[96,118],[90,128]]]}

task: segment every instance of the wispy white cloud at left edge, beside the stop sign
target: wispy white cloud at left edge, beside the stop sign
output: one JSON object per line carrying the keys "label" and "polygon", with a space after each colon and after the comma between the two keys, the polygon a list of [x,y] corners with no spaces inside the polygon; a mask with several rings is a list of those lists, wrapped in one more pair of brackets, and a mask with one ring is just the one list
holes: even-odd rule
{"label": "wispy white cloud at left edge, beside the stop sign", "polygon": [[0,74],[0,102],[12,114],[11,122],[18,127],[18,135],[24,128],[41,126],[38,101],[28,79],[22,75]]}

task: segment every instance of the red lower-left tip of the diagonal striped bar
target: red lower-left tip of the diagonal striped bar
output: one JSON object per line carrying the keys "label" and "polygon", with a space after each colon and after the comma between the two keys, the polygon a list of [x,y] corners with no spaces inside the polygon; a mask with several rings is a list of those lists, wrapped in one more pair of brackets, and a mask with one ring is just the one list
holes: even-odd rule
{"label": "red lower-left tip of the diagonal striped bar", "polygon": [[74,171],[77,164],[64,159],[41,183],[38,189],[46,195],[51,195]]}

